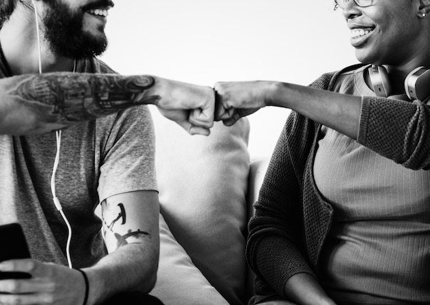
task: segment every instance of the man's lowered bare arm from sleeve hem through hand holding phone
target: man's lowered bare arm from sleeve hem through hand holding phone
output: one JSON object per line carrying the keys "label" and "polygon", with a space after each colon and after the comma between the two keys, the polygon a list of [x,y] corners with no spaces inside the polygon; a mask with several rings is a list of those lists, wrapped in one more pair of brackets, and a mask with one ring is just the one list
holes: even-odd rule
{"label": "man's lowered bare arm from sleeve hem through hand holding phone", "polygon": [[[84,268],[89,281],[88,305],[117,293],[148,293],[155,285],[159,261],[159,202],[155,191],[111,196],[102,203],[104,238],[109,254]],[[30,273],[30,280],[0,280],[0,304],[82,304],[82,274],[38,260],[7,260],[0,271]]]}

